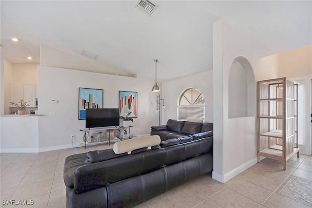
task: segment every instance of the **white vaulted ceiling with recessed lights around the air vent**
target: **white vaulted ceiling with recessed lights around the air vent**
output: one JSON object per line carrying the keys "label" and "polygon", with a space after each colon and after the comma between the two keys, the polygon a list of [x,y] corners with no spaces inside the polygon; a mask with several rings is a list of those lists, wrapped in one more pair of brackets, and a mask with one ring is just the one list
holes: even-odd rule
{"label": "white vaulted ceiling with recessed lights around the air vent", "polygon": [[250,35],[259,56],[312,44],[312,1],[152,2],[158,8],[147,16],[133,0],[1,0],[1,55],[39,63],[42,43],[77,55],[85,50],[98,62],[150,78],[158,59],[161,82],[213,69],[217,19]]}

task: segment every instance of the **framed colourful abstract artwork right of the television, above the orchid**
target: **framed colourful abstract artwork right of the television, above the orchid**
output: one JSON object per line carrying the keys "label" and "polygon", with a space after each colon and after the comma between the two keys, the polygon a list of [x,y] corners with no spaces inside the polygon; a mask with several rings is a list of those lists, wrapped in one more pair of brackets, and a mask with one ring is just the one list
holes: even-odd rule
{"label": "framed colourful abstract artwork right of the television, above the orchid", "polygon": [[119,91],[119,115],[137,118],[137,92]]}

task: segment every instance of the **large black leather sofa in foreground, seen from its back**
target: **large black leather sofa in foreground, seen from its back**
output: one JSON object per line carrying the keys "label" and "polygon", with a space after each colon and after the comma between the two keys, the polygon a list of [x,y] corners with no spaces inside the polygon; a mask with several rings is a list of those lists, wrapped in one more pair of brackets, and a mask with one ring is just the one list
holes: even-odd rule
{"label": "large black leather sofa in foreground, seen from its back", "polygon": [[213,170],[213,132],[161,141],[115,154],[112,149],[68,156],[68,208],[134,207]]}

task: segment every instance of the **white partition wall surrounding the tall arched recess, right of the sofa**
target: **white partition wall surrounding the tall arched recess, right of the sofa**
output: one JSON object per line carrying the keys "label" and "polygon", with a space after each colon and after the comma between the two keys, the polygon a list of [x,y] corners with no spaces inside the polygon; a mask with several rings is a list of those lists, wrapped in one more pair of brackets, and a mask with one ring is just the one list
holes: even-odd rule
{"label": "white partition wall surrounding the tall arched recess, right of the sofa", "polygon": [[[231,105],[229,74],[234,59],[246,57],[254,70],[255,80],[258,75],[267,72],[258,65],[260,57],[253,42],[249,40],[248,35],[225,20],[220,19],[214,23],[214,158],[220,158],[218,160],[221,160],[222,165],[214,163],[213,178],[221,182],[226,182],[256,163],[256,116],[228,118]],[[275,78],[275,75],[276,69],[266,76]],[[248,94],[254,97],[252,103],[256,105],[256,91]],[[252,115],[256,114],[255,109],[251,112]]]}

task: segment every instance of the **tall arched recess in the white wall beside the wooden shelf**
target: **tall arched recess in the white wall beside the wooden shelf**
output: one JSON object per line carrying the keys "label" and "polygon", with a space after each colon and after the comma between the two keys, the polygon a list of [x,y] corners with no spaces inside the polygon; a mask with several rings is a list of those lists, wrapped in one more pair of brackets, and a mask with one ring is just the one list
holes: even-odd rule
{"label": "tall arched recess in the white wall beside the wooden shelf", "polygon": [[229,74],[229,118],[256,115],[256,83],[247,58],[234,59]]}

